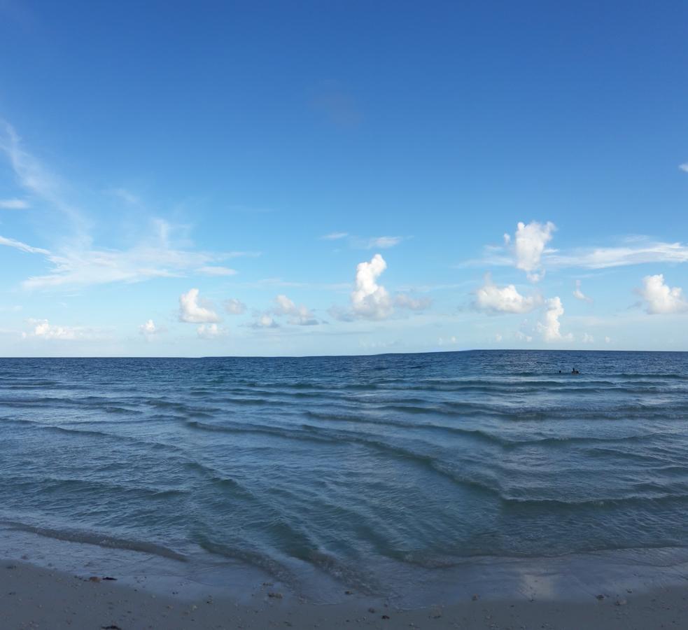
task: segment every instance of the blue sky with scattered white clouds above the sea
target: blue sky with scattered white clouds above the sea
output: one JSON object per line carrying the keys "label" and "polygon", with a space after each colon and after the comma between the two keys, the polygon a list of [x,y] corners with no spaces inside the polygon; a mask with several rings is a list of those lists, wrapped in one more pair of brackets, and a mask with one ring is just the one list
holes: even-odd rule
{"label": "blue sky with scattered white clouds above the sea", "polygon": [[0,356],[688,351],[688,3],[0,0]]}

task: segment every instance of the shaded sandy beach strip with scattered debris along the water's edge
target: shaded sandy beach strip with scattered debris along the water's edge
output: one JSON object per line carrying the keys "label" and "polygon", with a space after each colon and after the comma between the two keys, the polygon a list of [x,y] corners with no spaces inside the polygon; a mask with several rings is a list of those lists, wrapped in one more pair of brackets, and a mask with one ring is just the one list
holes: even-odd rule
{"label": "shaded sandy beach strip with scattered debris along the water's edge", "polygon": [[[0,566],[0,618],[14,629],[660,629],[688,627],[688,584],[643,593],[601,593],[574,601],[489,599],[398,610],[359,597],[314,604],[256,584],[250,601],[232,593],[204,594],[183,584],[151,589],[146,580],[122,584],[115,575],[71,575],[24,561]],[[158,584],[158,587],[160,584]],[[178,590],[177,590],[178,589]],[[201,587],[202,589],[202,587]],[[603,596],[603,597],[601,597]]]}

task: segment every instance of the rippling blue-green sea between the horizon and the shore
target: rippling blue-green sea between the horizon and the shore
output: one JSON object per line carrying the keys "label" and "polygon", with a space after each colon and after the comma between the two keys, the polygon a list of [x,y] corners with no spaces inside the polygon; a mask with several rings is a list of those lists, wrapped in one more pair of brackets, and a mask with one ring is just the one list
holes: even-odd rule
{"label": "rippling blue-green sea between the horizon and the shore", "polygon": [[687,421],[688,353],[0,359],[0,522],[362,589],[688,547]]}

